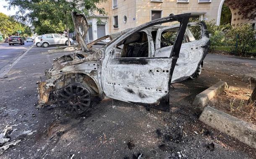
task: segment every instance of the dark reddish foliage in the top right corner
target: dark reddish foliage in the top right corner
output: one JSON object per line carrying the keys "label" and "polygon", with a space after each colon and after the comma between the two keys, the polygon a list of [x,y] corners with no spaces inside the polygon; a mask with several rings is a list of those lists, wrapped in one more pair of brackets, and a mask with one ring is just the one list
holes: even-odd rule
{"label": "dark reddish foliage in the top right corner", "polygon": [[256,20],[256,3],[248,0],[226,0],[227,6],[238,9],[238,14],[249,20]]}

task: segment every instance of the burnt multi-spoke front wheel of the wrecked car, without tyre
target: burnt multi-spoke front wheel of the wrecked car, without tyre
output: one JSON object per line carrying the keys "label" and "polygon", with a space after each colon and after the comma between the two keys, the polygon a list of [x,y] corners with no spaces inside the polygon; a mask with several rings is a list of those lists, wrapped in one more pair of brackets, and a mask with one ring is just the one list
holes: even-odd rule
{"label": "burnt multi-spoke front wheel of the wrecked car, without tyre", "polygon": [[66,113],[79,115],[89,109],[91,96],[86,87],[74,82],[60,90],[57,101]]}

